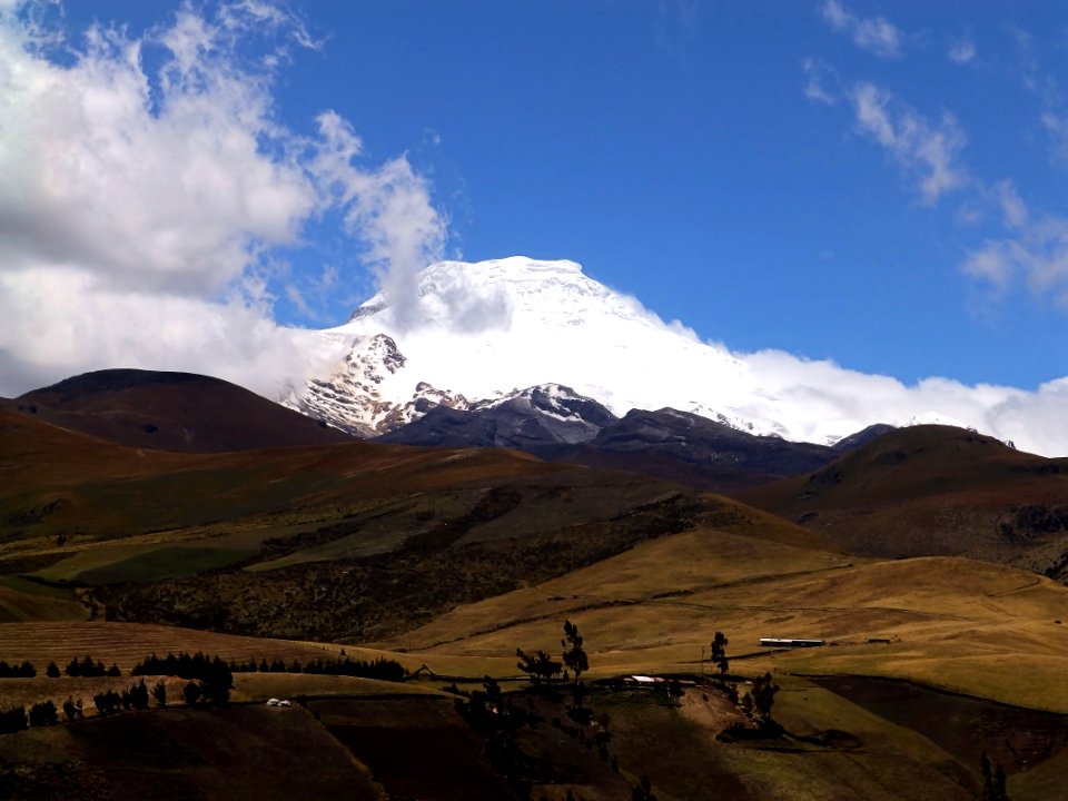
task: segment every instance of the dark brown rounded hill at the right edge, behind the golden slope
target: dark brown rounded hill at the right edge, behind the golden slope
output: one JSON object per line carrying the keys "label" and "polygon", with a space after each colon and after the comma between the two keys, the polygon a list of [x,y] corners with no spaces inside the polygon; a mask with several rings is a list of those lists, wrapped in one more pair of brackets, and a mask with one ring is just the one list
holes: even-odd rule
{"label": "dark brown rounded hill at the right edge, behind the golden slope", "polygon": [[733,495],[854,553],[969,555],[1068,575],[1068,459],[963,428],[893,431],[818,471]]}

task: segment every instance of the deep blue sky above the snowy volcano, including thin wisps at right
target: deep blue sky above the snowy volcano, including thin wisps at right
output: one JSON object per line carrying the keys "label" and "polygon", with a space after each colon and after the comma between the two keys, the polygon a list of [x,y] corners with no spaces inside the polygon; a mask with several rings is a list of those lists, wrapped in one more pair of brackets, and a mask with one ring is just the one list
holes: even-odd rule
{"label": "deep blue sky above the snowy volcano, including thin wisps at right", "polygon": [[237,225],[255,257],[212,268],[228,280],[175,278],[161,259],[141,291],[168,303],[217,303],[243,281],[279,323],[342,322],[397,245],[353,187],[393,165],[404,175],[376,186],[404,186],[438,215],[405,258],[573,259],[733,350],[907,384],[1030,389],[1068,374],[1068,11],[1055,3],[4,8],[65,34],[31,48],[34,63],[91,60],[93,23],[122,31],[152,97],[177,52],[166,31],[239,12],[228,49],[205,59],[256,88],[259,156],[326,137],[326,111],[358,138],[358,175],[319,180],[301,162],[319,178],[291,177],[284,219]]}

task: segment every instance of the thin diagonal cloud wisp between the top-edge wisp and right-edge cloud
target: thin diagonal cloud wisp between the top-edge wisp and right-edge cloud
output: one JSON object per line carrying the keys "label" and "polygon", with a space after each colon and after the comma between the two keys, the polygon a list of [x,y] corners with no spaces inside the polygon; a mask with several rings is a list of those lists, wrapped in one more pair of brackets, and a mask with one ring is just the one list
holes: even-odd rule
{"label": "thin diagonal cloud wisp between the top-edge wisp and right-edge cloud", "polygon": [[951,115],[936,125],[890,92],[872,83],[857,83],[851,91],[857,127],[874,139],[919,180],[924,202],[934,204],[946,192],[961,187],[967,174],[958,164],[965,135]]}

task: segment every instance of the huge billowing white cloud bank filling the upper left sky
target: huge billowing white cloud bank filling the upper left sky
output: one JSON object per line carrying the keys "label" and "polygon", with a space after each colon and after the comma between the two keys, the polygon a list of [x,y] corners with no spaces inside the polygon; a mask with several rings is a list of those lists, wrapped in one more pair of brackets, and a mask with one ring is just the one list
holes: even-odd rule
{"label": "huge billowing white cloud bank filling the upper left sky", "polygon": [[399,297],[442,247],[406,158],[357,167],[333,112],[315,140],[278,122],[274,70],[318,47],[283,4],[184,4],[142,37],[97,26],[57,60],[37,8],[0,6],[0,395],[118,365],[273,395],[316,369],[273,320],[276,293],[314,297],[274,288],[276,248],[339,211]]}

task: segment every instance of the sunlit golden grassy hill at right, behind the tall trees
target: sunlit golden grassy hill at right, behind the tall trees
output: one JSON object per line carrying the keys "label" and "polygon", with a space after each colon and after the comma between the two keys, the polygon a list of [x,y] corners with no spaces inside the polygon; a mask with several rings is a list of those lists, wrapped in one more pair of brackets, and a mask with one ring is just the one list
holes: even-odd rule
{"label": "sunlit golden grassy hill at right, behind the tall trees", "polygon": [[[1068,712],[1068,686],[1058,679],[1068,669],[1068,589],[1060,584],[970,560],[858,562],[714,531],[643,543],[379,645],[411,645],[431,663],[516,646],[551,651],[564,619],[585,635],[593,675],[699,671],[702,647],[723,631],[734,669],[748,674],[894,676]],[[832,645],[771,653],[759,646],[762,636]]]}

